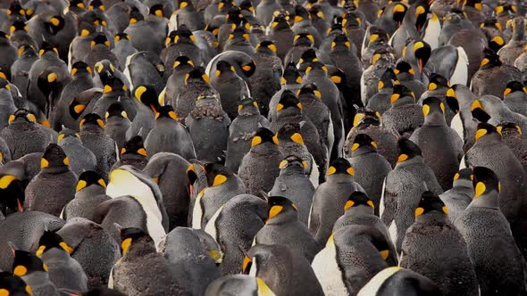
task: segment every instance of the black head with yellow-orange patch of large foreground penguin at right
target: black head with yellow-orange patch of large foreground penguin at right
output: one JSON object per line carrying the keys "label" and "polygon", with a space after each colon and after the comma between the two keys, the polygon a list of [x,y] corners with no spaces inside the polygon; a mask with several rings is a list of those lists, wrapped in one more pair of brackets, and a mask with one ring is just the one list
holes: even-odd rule
{"label": "black head with yellow-orange patch of large foreground penguin at right", "polygon": [[492,169],[485,167],[474,167],[473,174],[474,200],[494,201],[494,205],[498,207],[498,196],[501,189],[498,176]]}

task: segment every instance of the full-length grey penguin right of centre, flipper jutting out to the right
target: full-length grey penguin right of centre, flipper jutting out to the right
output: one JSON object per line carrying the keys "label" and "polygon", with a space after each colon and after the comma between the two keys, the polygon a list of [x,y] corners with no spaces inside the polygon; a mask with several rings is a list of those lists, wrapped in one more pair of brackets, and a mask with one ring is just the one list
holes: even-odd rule
{"label": "full-length grey penguin right of centre, flipper jutting out to the right", "polygon": [[433,171],[423,162],[419,146],[401,137],[397,141],[397,151],[397,165],[384,180],[380,212],[400,254],[406,230],[414,223],[414,210],[422,193],[428,190],[440,194],[443,189]]}

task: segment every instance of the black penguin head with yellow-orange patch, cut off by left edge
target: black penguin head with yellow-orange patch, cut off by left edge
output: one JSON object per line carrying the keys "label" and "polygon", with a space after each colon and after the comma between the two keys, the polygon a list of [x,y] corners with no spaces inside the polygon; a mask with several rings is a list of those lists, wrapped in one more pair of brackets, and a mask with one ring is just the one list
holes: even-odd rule
{"label": "black penguin head with yellow-orange patch, cut off by left edge", "polygon": [[0,175],[0,210],[4,216],[22,211],[24,204],[24,189],[21,179],[14,175]]}

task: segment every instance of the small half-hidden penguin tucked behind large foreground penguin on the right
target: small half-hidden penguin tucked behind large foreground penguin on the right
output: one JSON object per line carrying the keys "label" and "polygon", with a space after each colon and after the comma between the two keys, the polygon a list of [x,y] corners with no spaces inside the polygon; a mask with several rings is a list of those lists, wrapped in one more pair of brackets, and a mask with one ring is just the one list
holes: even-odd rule
{"label": "small half-hidden penguin tucked behind large foreground penguin on the right", "polygon": [[439,194],[439,198],[448,209],[448,219],[454,225],[457,218],[463,215],[464,209],[473,201],[473,177],[472,169],[460,169],[454,175],[452,188]]}

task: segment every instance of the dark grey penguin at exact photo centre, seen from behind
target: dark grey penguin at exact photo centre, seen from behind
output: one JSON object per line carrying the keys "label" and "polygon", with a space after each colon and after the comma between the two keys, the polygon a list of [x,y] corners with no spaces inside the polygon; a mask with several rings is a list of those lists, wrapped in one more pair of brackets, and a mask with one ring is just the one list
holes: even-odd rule
{"label": "dark grey penguin at exact photo centre, seen from behind", "polygon": [[251,140],[251,149],[241,160],[238,175],[247,187],[247,193],[259,194],[272,190],[275,179],[280,175],[282,155],[278,141],[272,131],[260,127]]}

